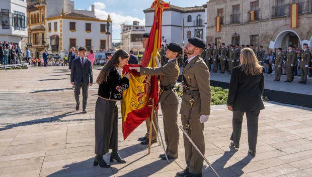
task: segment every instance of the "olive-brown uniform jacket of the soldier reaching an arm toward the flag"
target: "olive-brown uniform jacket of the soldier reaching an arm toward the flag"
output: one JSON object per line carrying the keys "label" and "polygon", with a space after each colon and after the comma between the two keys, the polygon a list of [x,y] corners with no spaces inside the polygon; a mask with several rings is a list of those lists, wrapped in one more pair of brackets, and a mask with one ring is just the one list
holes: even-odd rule
{"label": "olive-brown uniform jacket of the soldier reaching an arm toward the flag", "polygon": [[[173,88],[177,83],[180,74],[180,69],[177,63],[177,59],[174,59],[168,62],[165,66],[160,68],[140,67],[140,74],[161,76],[161,87],[171,86]],[[179,103],[178,93],[172,90],[165,90],[160,95],[159,102],[165,104],[178,104]]]}

